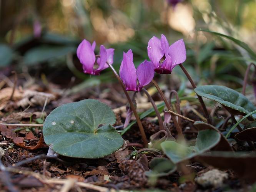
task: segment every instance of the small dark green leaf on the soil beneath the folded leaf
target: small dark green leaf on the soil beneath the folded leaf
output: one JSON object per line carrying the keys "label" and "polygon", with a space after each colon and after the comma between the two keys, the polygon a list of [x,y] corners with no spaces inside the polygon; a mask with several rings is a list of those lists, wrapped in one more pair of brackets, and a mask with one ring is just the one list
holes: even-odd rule
{"label": "small dark green leaf on the soil beneath the folded leaf", "polygon": [[155,157],[150,161],[150,171],[145,172],[148,177],[163,177],[172,174],[177,167],[166,158]]}

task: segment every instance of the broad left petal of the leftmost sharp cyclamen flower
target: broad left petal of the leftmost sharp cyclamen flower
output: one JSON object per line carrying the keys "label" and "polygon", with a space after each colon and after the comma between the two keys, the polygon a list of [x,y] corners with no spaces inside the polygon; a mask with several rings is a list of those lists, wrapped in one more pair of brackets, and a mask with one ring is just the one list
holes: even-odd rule
{"label": "broad left petal of the leftmost sharp cyclamen flower", "polygon": [[84,73],[93,74],[95,54],[91,48],[91,43],[87,40],[83,40],[76,50],[76,55],[80,62],[83,64]]}

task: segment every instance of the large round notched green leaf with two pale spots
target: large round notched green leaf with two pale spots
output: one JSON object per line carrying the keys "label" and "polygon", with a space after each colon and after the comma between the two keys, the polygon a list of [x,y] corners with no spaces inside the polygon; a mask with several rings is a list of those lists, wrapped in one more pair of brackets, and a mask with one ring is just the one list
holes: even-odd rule
{"label": "large round notched green leaf with two pale spots", "polygon": [[118,150],[123,139],[112,124],[113,111],[94,99],[64,104],[45,119],[43,136],[53,151],[63,156],[100,158]]}

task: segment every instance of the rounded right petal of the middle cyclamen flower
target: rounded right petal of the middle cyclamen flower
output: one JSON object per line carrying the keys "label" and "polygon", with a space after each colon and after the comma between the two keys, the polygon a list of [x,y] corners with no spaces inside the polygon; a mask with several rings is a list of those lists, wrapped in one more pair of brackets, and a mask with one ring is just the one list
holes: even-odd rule
{"label": "rounded right petal of the middle cyclamen flower", "polygon": [[137,70],[136,70],[136,74],[137,74],[137,78],[139,80],[140,86],[138,87],[137,91],[140,91],[143,86],[149,84],[151,82],[151,80],[154,77],[154,68],[153,68],[153,63],[151,61],[143,61],[143,63],[141,63]]}

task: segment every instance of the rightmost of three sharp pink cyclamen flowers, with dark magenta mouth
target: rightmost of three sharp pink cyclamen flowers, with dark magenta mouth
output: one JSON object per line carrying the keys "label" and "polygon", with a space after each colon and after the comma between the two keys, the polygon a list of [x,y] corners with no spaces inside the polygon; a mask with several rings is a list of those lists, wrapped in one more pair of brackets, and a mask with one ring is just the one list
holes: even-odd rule
{"label": "rightmost of three sharp pink cyclamen flowers, with dark magenta mouth", "polygon": [[186,48],[183,39],[171,46],[165,35],[161,40],[153,36],[148,41],[148,57],[154,64],[154,70],[160,74],[171,74],[173,68],[186,60]]}

